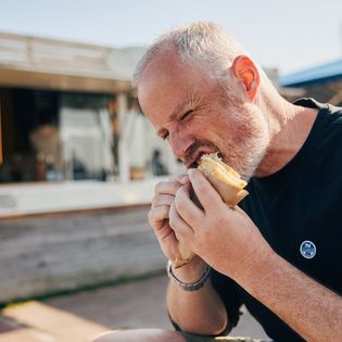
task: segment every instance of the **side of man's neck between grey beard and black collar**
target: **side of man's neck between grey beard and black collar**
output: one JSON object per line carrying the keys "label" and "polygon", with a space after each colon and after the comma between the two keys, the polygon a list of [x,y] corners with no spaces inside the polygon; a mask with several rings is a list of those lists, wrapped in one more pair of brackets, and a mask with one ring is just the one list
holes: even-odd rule
{"label": "side of man's neck between grey beard and black collar", "polygon": [[254,176],[266,177],[284,167],[303,147],[317,114],[316,109],[281,103],[269,116],[270,143]]}

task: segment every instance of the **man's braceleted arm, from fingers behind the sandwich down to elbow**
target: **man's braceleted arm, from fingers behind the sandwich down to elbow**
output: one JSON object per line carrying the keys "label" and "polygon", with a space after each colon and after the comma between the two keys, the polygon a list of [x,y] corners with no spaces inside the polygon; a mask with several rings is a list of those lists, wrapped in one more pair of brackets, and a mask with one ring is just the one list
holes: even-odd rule
{"label": "man's braceleted arm, from fingers behind the sandwich down to elbow", "polygon": [[[169,220],[175,225],[179,220],[174,201],[176,192],[183,183],[189,185],[187,176],[180,176],[174,181],[160,182],[155,188],[149,213],[150,225],[162,251],[170,261],[176,258],[178,240]],[[195,256],[190,264],[173,269],[173,273],[182,282],[191,283],[201,278],[205,267],[206,264]],[[199,334],[217,334],[227,326],[228,318],[224,303],[212,287],[210,279],[203,288],[192,292],[185,291],[170,281],[166,300],[168,313],[181,330]]]}

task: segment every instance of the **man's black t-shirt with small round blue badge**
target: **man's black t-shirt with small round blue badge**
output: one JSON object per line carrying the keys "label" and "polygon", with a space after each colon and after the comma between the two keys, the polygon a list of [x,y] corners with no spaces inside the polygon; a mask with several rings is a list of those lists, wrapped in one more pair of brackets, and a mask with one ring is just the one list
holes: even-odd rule
{"label": "man's black t-shirt with small round blue badge", "polygon": [[[282,169],[250,180],[240,206],[276,253],[342,294],[342,109],[312,99],[295,104],[319,110],[309,136]],[[231,279],[213,271],[212,280],[232,326],[243,303],[271,339],[304,341]]]}

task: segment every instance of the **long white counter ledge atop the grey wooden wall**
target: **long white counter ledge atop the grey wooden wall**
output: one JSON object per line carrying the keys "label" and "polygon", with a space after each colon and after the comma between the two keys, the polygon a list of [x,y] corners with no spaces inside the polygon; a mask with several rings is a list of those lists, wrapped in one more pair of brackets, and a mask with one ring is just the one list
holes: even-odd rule
{"label": "long white counter ledge atop the grey wooden wall", "polygon": [[0,218],[151,203],[155,183],[162,179],[0,185]]}

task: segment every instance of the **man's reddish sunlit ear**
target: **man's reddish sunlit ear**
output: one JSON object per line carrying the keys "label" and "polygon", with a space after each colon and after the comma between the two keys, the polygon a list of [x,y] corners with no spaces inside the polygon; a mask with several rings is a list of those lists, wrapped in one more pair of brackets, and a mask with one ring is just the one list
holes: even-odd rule
{"label": "man's reddish sunlit ear", "polygon": [[261,83],[257,67],[246,55],[237,56],[231,65],[232,74],[243,84],[251,101],[254,101]]}

